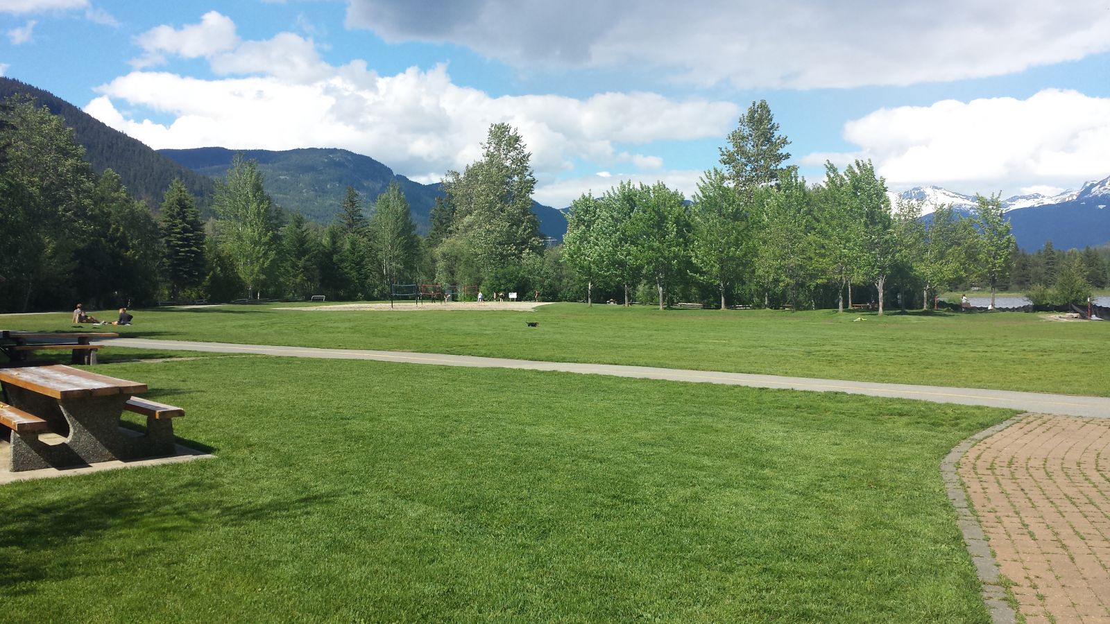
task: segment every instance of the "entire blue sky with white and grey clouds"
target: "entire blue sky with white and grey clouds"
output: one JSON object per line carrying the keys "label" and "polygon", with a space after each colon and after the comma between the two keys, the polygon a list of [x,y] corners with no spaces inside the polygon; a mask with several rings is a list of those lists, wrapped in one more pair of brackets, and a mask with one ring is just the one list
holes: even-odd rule
{"label": "entire blue sky with white and grey clouds", "polygon": [[1110,0],[0,0],[0,74],[152,148],[345,148],[422,182],[519,129],[536,199],[687,195],[766,99],[810,181],[1110,175]]}

